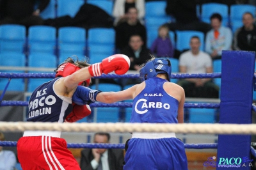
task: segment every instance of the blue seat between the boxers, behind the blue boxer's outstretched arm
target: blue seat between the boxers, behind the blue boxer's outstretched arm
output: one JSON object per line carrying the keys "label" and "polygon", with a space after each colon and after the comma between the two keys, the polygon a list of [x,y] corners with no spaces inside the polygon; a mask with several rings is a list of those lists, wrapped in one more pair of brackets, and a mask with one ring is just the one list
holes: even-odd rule
{"label": "blue seat between the boxers, behind the blue boxer's outstretched arm", "polygon": [[[96,85],[90,86],[92,89],[96,89]],[[110,83],[98,84],[98,89],[101,91],[120,91],[121,86]],[[119,121],[119,108],[118,107],[97,107],[97,114],[93,112],[94,116],[97,116],[97,122],[117,122]]]}

